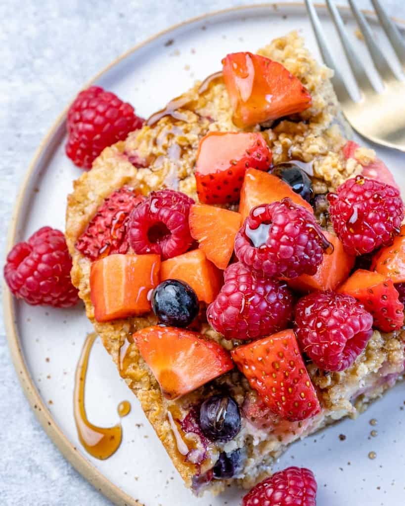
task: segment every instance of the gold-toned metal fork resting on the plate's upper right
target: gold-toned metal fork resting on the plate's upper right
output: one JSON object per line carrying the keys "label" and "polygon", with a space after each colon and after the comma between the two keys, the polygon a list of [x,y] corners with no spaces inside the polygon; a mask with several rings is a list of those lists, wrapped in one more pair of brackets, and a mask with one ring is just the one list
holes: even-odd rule
{"label": "gold-toned metal fork resting on the plate's upper right", "polygon": [[[372,3],[402,69],[405,70],[403,38],[398,28],[388,18],[379,0],[372,0]],[[400,80],[392,71],[381,49],[376,44],[365,16],[355,6],[353,0],[349,0],[350,8],[363,34],[375,69],[384,85],[381,92],[372,85],[360,58],[353,49],[336,5],[332,0],[327,0],[329,12],[360,92],[359,100],[354,101],[331,55],[312,0],[305,0],[305,4],[323,61],[335,71],[332,79],[333,87],[349,123],[363,137],[405,152],[405,81]]]}

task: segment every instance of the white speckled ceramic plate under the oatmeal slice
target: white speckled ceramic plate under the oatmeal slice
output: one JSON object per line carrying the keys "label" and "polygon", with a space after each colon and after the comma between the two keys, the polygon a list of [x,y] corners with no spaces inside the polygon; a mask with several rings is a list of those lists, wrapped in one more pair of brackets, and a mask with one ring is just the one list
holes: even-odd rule
{"label": "white speckled ceramic plate under the oatmeal slice", "polygon": [[[319,6],[318,12],[334,42],[333,50],[343,62],[325,6]],[[350,38],[371,67],[363,43],[355,35],[353,19],[347,10],[342,12]],[[379,45],[393,58],[382,30],[373,16],[370,19]],[[255,51],[292,29],[299,29],[310,50],[318,54],[302,4],[252,6],[212,13],[159,33],[113,62],[94,81],[135,104],[142,116],[148,116],[189,88],[195,79],[218,70],[226,53]],[[342,67],[347,70],[343,63]],[[77,83],[77,89],[81,85]],[[81,173],[64,155],[65,113],[44,139],[28,170],[10,227],[10,248],[45,224],[64,228],[66,195]],[[380,148],[377,151],[404,188],[405,155]],[[7,289],[4,293],[9,344],[28,400],[55,444],[95,487],[122,505],[240,503],[241,493],[236,489],[216,498],[209,494],[195,498],[184,488],[138,401],[121,381],[100,342],[89,363],[89,418],[104,427],[114,425],[118,421],[117,404],[124,399],[131,401],[132,411],[122,420],[123,442],[118,451],[103,461],[88,455],[78,441],[72,409],[74,370],[86,333],[92,330],[83,308],[30,307],[14,301]],[[403,504],[404,400],[404,387],[399,385],[356,421],[345,420],[294,444],[276,468],[311,468],[319,485],[319,506]],[[372,418],[377,426],[370,425]],[[371,435],[373,429],[376,436]],[[375,452],[374,459],[369,458],[370,452]]]}

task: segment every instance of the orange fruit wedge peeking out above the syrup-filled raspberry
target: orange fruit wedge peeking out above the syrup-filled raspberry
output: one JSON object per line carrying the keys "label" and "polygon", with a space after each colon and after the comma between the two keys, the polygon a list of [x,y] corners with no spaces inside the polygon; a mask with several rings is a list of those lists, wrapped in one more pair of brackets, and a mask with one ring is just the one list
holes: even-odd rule
{"label": "orange fruit wedge peeking out above the syrup-filled raspberry", "polygon": [[313,213],[311,204],[304,200],[301,195],[295,193],[285,181],[268,174],[250,168],[246,171],[244,183],[240,190],[239,213],[242,220],[249,216],[253,207],[261,204],[271,204],[285,197],[291,198],[296,204],[302,205]]}

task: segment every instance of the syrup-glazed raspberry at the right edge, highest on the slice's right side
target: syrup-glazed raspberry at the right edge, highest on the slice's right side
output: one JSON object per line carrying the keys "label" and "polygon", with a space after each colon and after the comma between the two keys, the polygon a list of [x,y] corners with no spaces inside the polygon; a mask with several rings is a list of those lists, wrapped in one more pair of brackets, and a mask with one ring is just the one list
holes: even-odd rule
{"label": "syrup-glazed raspberry at the right edge, highest on the slice's right side", "polygon": [[393,186],[362,176],[329,193],[333,228],[349,255],[365,255],[399,234],[403,204]]}

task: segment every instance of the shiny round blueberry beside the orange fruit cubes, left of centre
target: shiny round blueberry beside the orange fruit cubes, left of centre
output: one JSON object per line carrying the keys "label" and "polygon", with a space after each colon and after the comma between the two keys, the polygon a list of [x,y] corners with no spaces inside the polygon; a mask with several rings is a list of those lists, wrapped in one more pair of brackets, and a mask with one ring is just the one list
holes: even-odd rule
{"label": "shiny round blueberry beside the orange fruit cubes, left of centre", "polygon": [[187,327],[198,314],[198,299],[187,283],[167,279],[152,291],[152,309],[160,323]]}

